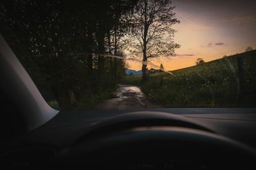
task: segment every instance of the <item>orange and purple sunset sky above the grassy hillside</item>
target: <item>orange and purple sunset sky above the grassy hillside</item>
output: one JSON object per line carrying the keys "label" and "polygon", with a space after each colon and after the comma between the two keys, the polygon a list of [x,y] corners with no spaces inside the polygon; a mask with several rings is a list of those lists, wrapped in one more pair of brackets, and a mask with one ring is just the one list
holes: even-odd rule
{"label": "orange and purple sunset sky above the grassy hillside", "polygon": [[[173,28],[175,43],[181,47],[171,59],[153,61],[172,71],[205,62],[223,55],[244,52],[247,46],[256,49],[256,1],[253,0],[173,0],[180,24]],[[140,70],[141,62],[128,61],[129,69]],[[154,66],[148,66],[148,69]]]}

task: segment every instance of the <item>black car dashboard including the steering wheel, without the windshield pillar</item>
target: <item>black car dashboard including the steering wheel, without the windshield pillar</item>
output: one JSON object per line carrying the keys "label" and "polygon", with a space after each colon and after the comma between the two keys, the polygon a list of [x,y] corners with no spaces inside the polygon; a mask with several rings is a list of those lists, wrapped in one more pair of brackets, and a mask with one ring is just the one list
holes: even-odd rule
{"label": "black car dashboard including the steering wheel, without the windshield pillar", "polygon": [[[63,111],[34,131],[2,141],[1,163],[8,169],[216,169],[223,165],[229,168],[236,160],[231,154],[234,148],[228,148],[230,141],[234,147],[241,145],[255,152],[254,111]],[[180,139],[182,133],[185,137]],[[224,144],[216,145],[223,143],[223,139]],[[244,168],[244,164],[239,166]]]}

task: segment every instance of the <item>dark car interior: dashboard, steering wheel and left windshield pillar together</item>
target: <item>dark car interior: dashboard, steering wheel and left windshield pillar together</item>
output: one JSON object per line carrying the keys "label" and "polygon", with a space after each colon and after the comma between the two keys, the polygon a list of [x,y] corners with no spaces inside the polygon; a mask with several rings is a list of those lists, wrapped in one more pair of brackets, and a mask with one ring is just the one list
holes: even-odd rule
{"label": "dark car interior: dashboard, steering wheel and left windshield pillar together", "polygon": [[0,169],[256,169],[256,108],[58,110],[1,34],[0,80]]}

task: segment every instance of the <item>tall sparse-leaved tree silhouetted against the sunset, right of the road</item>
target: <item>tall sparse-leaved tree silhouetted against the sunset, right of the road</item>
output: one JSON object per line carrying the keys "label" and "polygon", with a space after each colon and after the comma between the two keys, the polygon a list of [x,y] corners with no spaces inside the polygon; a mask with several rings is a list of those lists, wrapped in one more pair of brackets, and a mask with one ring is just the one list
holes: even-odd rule
{"label": "tall sparse-leaved tree silhouetted against the sunset, right of the road", "polygon": [[[147,60],[174,53],[180,45],[174,43],[173,24],[179,23],[170,0],[139,0],[131,20],[129,51],[142,56],[142,82],[147,81]],[[141,57],[140,57],[141,59]]]}

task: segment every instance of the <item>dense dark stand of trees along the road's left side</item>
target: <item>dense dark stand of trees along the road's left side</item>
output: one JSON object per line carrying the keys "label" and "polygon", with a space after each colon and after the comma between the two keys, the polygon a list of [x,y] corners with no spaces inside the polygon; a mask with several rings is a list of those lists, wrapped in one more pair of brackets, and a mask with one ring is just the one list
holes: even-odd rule
{"label": "dense dark stand of trees along the road's left side", "polygon": [[55,98],[65,110],[93,103],[124,76],[124,61],[104,55],[122,56],[121,38],[129,27],[125,15],[135,5],[6,0],[0,3],[0,31],[45,99]]}

